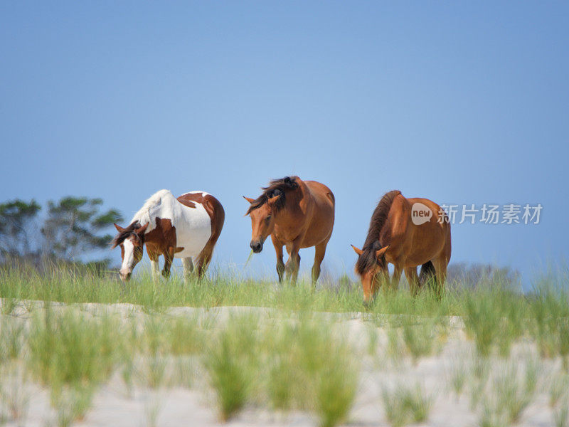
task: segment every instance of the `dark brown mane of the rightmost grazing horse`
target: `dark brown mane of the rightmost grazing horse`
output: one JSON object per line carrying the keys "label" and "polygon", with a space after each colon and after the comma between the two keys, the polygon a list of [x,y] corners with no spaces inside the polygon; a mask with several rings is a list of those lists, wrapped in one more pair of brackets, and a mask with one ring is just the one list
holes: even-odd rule
{"label": "dark brown mane of the rightmost grazing horse", "polygon": [[[376,252],[382,248],[382,244],[379,241],[379,236],[381,229],[387,221],[387,216],[393,200],[395,197],[399,196],[401,191],[393,190],[385,193],[381,200],[376,206],[371,216],[371,221],[368,228],[368,236],[366,237],[366,242],[363,243],[363,248],[361,248],[361,255],[356,261],[356,271],[361,275],[366,271],[373,268],[373,266],[378,264],[378,259],[376,257]],[[383,254],[385,256],[385,254]]]}

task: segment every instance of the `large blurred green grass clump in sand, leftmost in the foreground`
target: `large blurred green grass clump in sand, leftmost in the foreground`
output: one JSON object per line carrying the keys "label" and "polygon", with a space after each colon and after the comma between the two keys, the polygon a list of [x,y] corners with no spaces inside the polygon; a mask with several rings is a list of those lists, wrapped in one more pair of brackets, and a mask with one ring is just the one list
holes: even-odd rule
{"label": "large blurred green grass clump in sand, leftmost in the foreground", "polygon": [[87,318],[75,310],[37,313],[28,332],[28,365],[50,389],[58,424],[83,418],[93,392],[109,379],[119,362],[121,334],[116,319]]}

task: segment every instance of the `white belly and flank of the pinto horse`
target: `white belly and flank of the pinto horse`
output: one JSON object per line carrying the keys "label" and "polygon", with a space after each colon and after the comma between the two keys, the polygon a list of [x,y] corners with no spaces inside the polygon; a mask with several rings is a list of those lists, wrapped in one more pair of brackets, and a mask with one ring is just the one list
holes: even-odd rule
{"label": "white belly and flank of the pinto horse", "polygon": [[176,246],[184,248],[175,258],[195,258],[211,238],[211,218],[206,209],[196,203],[196,208],[184,206],[181,221],[176,224]]}

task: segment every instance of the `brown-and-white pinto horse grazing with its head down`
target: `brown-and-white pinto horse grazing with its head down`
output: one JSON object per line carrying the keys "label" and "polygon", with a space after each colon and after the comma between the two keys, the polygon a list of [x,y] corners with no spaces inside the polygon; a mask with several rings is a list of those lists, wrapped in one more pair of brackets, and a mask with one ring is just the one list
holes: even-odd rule
{"label": "brown-and-white pinto horse grazing with its head down", "polygon": [[158,191],[144,203],[128,227],[115,224],[119,233],[112,241],[112,248],[120,246],[121,279],[129,280],[134,265],[142,259],[145,243],[153,280],[158,277],[160,255],[164,255],[162,275],[165,278],[170,275],[174,258],[182,259],[184,277],[193,272],[195,260],[198,278],[201,278],[224,221],[223,206],[205,191],[191,191],[177,199],[168,190]]}

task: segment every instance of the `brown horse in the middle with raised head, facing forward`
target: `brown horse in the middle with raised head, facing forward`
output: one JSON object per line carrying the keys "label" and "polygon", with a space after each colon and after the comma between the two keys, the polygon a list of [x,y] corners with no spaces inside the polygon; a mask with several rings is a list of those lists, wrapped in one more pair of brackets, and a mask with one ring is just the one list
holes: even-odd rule
{"label": "brown horse in the middle with raised head, facing forward", "polygon": [[[334,228],[334,194],[317,181],[302,181],[298,176],[287,176],[270,181],[257,199],[245,197],[251,206],[251,249],[262,251],[267,236],[271,236],[277,253],[277,273],[282,282],[283,273],[296,283],[301,248],[315,247],[312,283],[320,275],[320,264]],[[282,262],[282,246],[289,259]]]}

